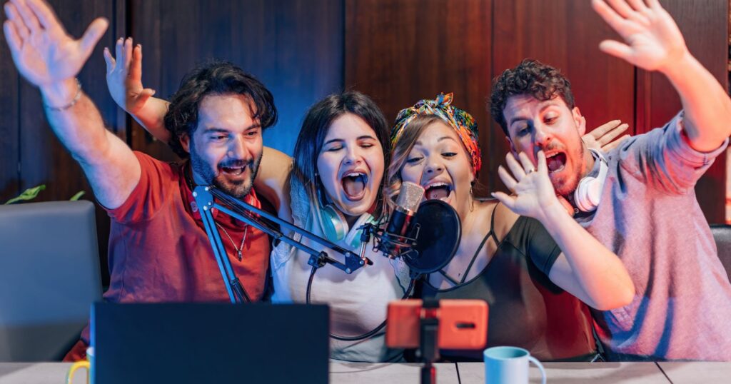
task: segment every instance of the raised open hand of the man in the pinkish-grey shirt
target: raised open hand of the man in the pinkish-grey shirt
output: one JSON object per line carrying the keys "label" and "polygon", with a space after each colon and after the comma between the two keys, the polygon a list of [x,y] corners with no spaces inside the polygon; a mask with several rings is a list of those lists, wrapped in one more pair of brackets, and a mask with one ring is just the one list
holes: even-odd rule
{"label": "raised open hand of the man in the pinkish-grey shirt", "polygon": [[605,53],[661,72],[688,53],[675,20],[658,0],[592,0],[591,5],[624,39],[602,41],[599,49]]}

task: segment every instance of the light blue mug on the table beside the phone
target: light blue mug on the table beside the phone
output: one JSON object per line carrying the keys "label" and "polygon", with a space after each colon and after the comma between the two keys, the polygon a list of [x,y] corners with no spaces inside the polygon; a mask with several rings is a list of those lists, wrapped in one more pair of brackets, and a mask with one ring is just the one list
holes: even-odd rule
{"label": "light blue mug on the table beside the phone", "polygon": [[546,383],[546,372],[537,358],[518,347],[492,347],[482,353],[485,359],[485,384],[528,384],[529,361],[541,370],[541,383]]}

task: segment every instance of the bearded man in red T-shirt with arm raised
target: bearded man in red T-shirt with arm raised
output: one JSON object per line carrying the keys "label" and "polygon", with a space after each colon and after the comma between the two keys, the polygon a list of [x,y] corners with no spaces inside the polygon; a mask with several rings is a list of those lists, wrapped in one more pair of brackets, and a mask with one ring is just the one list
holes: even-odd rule
{"label": "bearded man in red T-shirt with arm raised", "polygon": [[[183,79],[164,119],[175,138],[173,148],[190,161],[160,162],[132,151],[105,129],[76,80],[107,20],[94,20],[74,40],[45,1],[13,0],[5,12],[5,37],[18,71],[39,87],[53,132],[112,218],[105,301],[228,301],[192,189],[213,184],[260,206],[251,186],[262,157],[262,130],[276,122],[270,91],[229,63],[195,69]],[[118,59],[122,50],[131,57],[132,40],[118,42],[117,49]],[[118,65],[129,66],[129,60]],[[260,301],[268,276],[268,236],[221,212],[213,218],[245,295]],[[87,345],[88,327],[64,360],[83,359]]]}

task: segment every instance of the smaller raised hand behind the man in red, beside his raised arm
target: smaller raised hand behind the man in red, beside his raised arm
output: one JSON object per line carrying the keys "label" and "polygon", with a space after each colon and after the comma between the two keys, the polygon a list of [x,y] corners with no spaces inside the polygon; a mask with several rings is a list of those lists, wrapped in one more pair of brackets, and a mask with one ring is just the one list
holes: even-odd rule
{"label": "smaller raised hand behind the man in red, beside his raised arm", "polygon": [[142,86],[142,45],[132,48],[132,37],[117,40],[116,60],[104,48],[107,62],[107,87],[114,101],[127,113],[135,115],[155,91]]}

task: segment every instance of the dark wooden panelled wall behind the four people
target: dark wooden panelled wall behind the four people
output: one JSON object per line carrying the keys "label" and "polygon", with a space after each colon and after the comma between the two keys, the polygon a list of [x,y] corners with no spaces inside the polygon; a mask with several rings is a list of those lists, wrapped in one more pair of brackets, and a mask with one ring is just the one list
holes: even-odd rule
{"label": "dark wooden panelled wall behind the four people", "polygon": [[[692,53],[728,86],[728,0],[663,0]],[[401,108],[439,92],[480,124],[482,193],[501,189],[497,166],[507,143],[485,102],[491,79],[531,57],[572,80],[588,127],[621,118],[632,133],[662,125],[680,109],[670,84],[599,52],[611,31],[588,0],[50,0],[69,34],[95,17],[110,20],[80,81],[109,128],[129,145],[175,159],[162,143],[116,108],[105,83],[102,48],[131,35],[143,45],[143,82],[170,97],[182,76],[205,59],[226,59],[260,78],[279,108],[265,144],[291,153],[309,105],[342,89],[373,97],[391,121]],[[4,15],[0,16],[0,21]],[[0,43],[0,202],[46,184],[38,200],[91,190],[58,143],[38,91],[18,76]],[[697,186],[709,222],[724,222],[726,159]],[[106,263],[108,218],[99,209],[99,248]],[[40,236],[40,233],[32,236]],[[31,239],[29,239],[31,241]],[[106,268],[104,268],[106,269]],[[105,277],[106,282],[106,277]]]}

